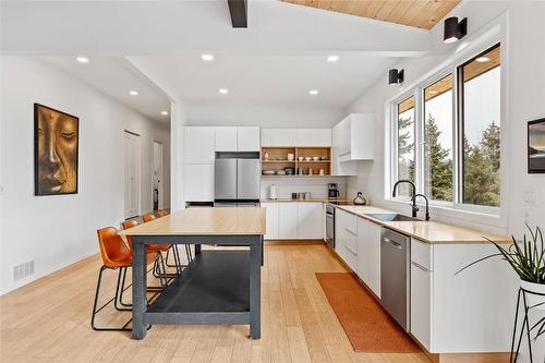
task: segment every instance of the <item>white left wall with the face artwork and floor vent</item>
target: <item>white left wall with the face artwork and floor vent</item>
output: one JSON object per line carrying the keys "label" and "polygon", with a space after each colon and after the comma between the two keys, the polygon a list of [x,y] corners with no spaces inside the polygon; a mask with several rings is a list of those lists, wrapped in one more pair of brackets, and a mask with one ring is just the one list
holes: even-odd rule
{"label": "white left wall with the face artwork and floor vent", "polygon": [[[96,230],[123,220],[123,131],[141,135],[142,211],[153,208],[153,140],[165,145],[169,199],[169,130],[41,61],[1,58],[1,293],[13,265],[35,261],[33,278],[98,252]],[[78,193],[34,196],[34,113],[39,102],[80,118]],[[166,203],[168,204],[168,203]]]}

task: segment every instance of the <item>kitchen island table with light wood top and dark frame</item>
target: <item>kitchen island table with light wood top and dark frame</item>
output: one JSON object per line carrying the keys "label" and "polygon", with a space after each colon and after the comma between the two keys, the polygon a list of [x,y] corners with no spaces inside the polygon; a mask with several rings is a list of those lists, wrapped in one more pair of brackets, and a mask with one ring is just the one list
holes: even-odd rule
{"label": "kitchen island table with light wood top and dark frame", "polygon": [[[133,239],[133,338],[154,324],[249,324],[261,338],[264,208],[184,209],[121,232]],[[194,244],[195,258],[148,305],[146,244]],[[250,251],[202,251],[202,244]]]}

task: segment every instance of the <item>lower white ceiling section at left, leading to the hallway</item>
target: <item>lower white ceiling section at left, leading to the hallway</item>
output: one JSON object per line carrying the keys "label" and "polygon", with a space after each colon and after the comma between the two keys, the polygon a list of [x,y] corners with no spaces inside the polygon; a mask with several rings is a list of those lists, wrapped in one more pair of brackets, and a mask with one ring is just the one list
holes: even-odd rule
{"label": "lower white ceiling section at left, leading to the hallway", "polygon": [[[152,120],[165,124],[170,121],[169,116],[160,114],[164,110],[170,113],[167,95],[124,58],[89,57],[85,64],[77,62],[75,57],[40,58]],[[130,90],[136,90],[138,95],[131,96]]]}

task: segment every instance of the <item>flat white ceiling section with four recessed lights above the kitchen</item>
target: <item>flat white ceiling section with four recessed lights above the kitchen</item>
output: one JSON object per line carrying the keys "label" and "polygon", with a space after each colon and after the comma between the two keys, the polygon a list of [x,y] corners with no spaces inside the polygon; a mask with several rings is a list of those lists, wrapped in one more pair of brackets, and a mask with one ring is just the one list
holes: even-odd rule
{"label": "flat white ceiling section with four recessed lights above the kitchen", "polygon": [[[327,56],[340,57],[330,63]],[[396,58],[362,52],[201,52],[130,57],[141,71],[169,94],[197,105],[344,108],[377,78],[384,78]],[[228,95],[219,88],[228,88]],[[319,94],[311,96],[310,89]]]}

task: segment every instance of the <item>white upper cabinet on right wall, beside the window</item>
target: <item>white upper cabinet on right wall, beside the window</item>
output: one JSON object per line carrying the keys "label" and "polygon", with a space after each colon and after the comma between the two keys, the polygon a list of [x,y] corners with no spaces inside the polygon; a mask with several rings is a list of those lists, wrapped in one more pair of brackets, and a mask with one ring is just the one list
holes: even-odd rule
{"label": "white upper cabinet on right wall, beside the window", "polygon": [[373,113],[352,113],[334,126],[334,148],[339,162],[374,159]]}

